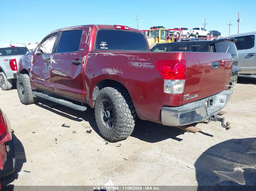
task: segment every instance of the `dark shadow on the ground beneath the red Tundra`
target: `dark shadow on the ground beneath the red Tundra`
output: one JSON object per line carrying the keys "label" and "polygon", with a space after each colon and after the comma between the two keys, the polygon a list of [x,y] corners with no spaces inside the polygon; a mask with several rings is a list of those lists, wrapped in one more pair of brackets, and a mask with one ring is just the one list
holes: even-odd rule
{"label": "dark shadow on the ground beneath the red Tundra", "polygon": [[[74,103],[74,101],[72,102]],[[99,136],[101,136],[95,121],[94,109],[89,106],[87,107],[87,110],[82,112],[78,110],[73,110],[69,107],[65,107],[58,103],[54,103],[42,98],[38,98],[35,105],[74,121],[81,122],[85,120],[90,124],[92,129]],[[158,123],[141,120],[137,117],[135,128],[131,136],[138,138],[142,141],[151,142],[151,143],[160,142],[168,138],[171,138],[177,141],[182,141],[182,139],[177,138],[177,136],[182,135],[185,132],[186,131],[182,129],[178,129],[176,127],[164,126]]]}

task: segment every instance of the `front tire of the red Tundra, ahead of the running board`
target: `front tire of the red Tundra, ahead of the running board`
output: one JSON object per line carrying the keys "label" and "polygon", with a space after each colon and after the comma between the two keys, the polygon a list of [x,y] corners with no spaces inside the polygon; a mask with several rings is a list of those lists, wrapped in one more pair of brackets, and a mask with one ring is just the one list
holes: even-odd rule
{"label": "front tire of the red Tundra, ahead of the running board", "polygon": [[35,103],[36,96],[32,94],[30,79],[27,74],[17,75],[17,91],[21,103],[24,105]]}

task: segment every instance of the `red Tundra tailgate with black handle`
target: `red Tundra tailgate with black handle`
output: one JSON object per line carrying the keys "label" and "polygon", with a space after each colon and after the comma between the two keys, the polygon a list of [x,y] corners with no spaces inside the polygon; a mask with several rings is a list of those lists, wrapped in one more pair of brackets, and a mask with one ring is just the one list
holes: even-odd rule
{"label": "red Tundra tailgate with black handle", "polygon": [[232,69],[230,53],[185,52],[186,81],[182,104],[227,90]]}

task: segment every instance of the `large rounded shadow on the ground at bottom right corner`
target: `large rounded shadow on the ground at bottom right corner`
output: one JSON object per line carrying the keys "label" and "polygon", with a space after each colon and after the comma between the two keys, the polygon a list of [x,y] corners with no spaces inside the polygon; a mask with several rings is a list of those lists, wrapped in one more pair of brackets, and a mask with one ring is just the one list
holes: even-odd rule
{"label": "large rounded shadow on the ground at bottom right corner", "polygon": [[[230,139],[214,145],[197,159],[194,166],[198,190],[256,186],[256,138]],[[239,189],[245,190],[245,187]]]}

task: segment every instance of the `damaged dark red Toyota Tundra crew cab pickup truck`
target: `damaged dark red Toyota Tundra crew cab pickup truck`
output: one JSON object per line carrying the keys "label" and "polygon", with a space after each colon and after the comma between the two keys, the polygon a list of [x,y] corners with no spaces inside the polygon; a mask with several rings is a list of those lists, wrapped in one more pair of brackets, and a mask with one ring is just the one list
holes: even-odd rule
{"label": "damaged dark red Toyota Tundra crew cab pickup truck", "polygon": [[121,25],[83,25],[55,30],[23,56],[17,90],[23,104],[36,97],[84,111],[95,108],[108,141],[127,138],[136,115],[168,126],[206,119],[230,100],[230,53],[149,52],[140,30]]}

